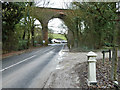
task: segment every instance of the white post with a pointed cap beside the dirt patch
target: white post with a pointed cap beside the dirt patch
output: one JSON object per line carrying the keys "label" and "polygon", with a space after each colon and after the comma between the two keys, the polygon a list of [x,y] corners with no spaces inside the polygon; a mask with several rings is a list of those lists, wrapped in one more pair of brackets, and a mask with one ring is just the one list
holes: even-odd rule
{"label": "white post with a pointed cap beside the dirt patch", "polygon": [[87,54],[88,57],[88,86],[96,85],[96,57],[97,54],[90,51]]}

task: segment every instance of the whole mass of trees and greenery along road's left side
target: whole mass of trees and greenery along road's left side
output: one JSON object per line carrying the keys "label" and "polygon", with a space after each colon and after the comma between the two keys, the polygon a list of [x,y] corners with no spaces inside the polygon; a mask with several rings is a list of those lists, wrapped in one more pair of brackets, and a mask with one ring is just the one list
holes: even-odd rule
{"label": "whole mass of trees and greenery along road's left side", "polygon": [[42,44],[41,29],[30,16],[33,2],[2,2],[3,53],[19,51]]}

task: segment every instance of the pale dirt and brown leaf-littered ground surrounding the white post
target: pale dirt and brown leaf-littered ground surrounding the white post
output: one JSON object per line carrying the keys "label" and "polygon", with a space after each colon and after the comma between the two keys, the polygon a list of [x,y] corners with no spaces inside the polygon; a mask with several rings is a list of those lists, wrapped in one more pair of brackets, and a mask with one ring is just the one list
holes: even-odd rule
{"label": "pale dirt and brown leaf-littered ground surrounding the white post", "polygon": [[97,86],[88,87],[87,53],[67,52],[52,72],[44,88],[114,88],[110,80],[109,60],[102,64],[102,54],[97,53]]}

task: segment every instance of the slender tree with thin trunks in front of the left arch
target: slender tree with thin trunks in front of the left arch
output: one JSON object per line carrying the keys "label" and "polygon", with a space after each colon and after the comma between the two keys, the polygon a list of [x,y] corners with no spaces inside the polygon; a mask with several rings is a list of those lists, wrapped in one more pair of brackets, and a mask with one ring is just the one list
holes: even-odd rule
{"label": "slender tree with thin trunks in front of the left arch", "polygon": [[[31,8],[34,5],[33,2],[27,4],[25,11],[24,11],[24,23],[26,28],[24,29],[23,40],[25,40],[25,36],[27,35],[27,47],[30,46],[30,37],[32,38],[32,46],[34,45],[34,29],[35,29],[35,20],[36,18],[30,15],[30,12],[34,10]],[[26,34],[27,32],[27,34]]]}

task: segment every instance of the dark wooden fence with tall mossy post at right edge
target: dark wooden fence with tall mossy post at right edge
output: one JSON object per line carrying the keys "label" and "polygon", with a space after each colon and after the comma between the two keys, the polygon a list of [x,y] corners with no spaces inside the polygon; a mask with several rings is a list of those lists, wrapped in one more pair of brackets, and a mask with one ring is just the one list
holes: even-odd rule
{"label": "dark wooden fence with tall mossy post at right edge", "polygon": [[120,63],[120,61],[118,61],[118,46],[113,46],[112,48],[109,48],[107,50],[103,50],[103,64],[105,62],[105,53],[108,52],[109,53],[109,61],[111,62],[111,72],[110,72],[110,76],[111,76],[111,80],[115,83],[115,86],[117,86],[118,88],[120,88],[118,82],[119,82],[119,78],[118,78],[118,62]]}

